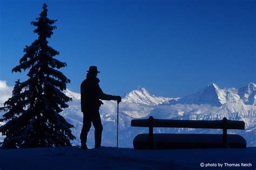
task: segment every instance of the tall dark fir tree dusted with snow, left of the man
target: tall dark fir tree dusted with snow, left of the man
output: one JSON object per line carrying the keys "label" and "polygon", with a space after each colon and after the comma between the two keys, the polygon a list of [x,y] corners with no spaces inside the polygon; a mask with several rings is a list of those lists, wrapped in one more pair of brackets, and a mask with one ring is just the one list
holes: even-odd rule
{"label": "tall dark fir tree dusted with snow, left of the man", "polygon": [[57,20],[47,18],[47,5],[43,4],[43,11],[36,22],[34,33],[38,39],[30,46],[25,46],[25,54],[19,65],[12,72],[29,70],[29,79],[16,81],[12,97],[4,103],[0,110],[6,111],[0,127],[2,135],[6,136],[2,148],[50,147],[71,146],[70,140],[75,139],[70,128],[73,125],[59,115],[63,108],[68,108],[66,102],[72,100],[62,91],[70,80],[56,70],[66,67],[53,56],[58,55],[52,47],[48,46],[47,38],[51,38],[52,26]]}

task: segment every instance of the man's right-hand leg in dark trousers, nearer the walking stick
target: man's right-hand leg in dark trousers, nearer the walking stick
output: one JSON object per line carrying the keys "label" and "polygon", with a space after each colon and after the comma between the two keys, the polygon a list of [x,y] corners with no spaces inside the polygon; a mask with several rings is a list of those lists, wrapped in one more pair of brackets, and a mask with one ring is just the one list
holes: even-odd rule
{"label": "man's right-hand leg in dark trousers, nearer the walking stick", "polygon": [[102,143],[102,121],[100,120],[99,111],[97,111],[95,117],[92,120],[92,124],[95,128],[95,148],[100,147]]}

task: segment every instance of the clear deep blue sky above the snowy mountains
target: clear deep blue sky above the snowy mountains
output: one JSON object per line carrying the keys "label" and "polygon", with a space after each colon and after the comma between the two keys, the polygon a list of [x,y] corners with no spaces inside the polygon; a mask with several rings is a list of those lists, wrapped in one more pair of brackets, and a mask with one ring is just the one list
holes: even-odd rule
{"label": "clear deep blue sky above the snowy mountains", "polygon": [[158,96],[255,83],[255,1],[0,1],[0,79],[11,73],[37,38],[35,21],[48,4],[58,19],[49,45],[68,67],[68,88],[79,92],[91,65],[105,93],[123,95],[137,86]]}

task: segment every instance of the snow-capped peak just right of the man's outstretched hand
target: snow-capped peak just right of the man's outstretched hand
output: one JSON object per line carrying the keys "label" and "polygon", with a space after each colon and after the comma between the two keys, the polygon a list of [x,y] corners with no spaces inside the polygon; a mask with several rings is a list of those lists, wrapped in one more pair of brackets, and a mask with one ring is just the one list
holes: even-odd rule
{"label": "snow-capped peak just right of the man's outstretched hand", "polygon": [[125,95],[123,102],[145,105],[158,105],[171,99],[172,98],[157,97],[151,95],[145,88],[138,86],[136,90],[132,90],[130,93],[127,93]]}

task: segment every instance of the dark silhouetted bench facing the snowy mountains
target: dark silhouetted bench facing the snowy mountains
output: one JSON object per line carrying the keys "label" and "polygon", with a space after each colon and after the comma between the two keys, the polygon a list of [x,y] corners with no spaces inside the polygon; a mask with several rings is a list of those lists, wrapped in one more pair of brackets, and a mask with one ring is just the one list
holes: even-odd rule
{"label": "dark silhouetted bench facing the snowy mountains", "polygon": [[[136,149],[246,147],[246,140],[243,137],[238,134],[227,134],[227,129],[245,129],[245,122],[230,121],[226,117],[220,121],[188,121],[154,119],[150,116],[149,119],[132,120],[131,126],[149,128],[149,133],[138,134],[133,139],[133,147]],[[223,129],[223,134],[154,134],[154,127]]]}

